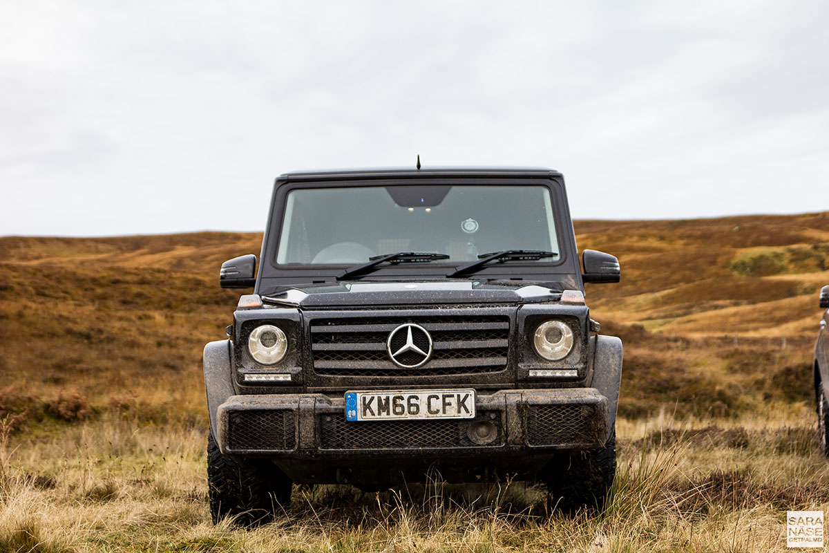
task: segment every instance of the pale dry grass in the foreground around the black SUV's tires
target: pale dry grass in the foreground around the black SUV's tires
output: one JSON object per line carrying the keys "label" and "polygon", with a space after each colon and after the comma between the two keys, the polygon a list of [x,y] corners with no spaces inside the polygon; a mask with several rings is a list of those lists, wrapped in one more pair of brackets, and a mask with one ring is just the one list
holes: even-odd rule
{"label": "pale dry grass in the foreground around the black SUV's tires", "polygon": [[[829,502],[812,424],[619,421],[603,512],[525,483],[295,488],[276,520],[212,526],[205,435],[115,413],[0,447],[0,551],[777,551],[783,512]],[[22,549],[21,549],[22,548]]]}

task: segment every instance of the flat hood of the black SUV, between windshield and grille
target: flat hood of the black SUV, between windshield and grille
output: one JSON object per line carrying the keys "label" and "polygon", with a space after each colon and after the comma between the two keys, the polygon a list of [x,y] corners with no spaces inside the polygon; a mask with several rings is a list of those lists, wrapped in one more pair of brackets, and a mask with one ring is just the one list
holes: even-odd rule
{"label": "flat hood of the black SUV, between windshield and grille", "polygon": [[416,305],[439,303],[529,303],[560,298],[558,283],[523,281],[478,282],[343,282],[298,284],[295,287],[265,293],[265,303],[294,307],[336,307],[372,305]]}

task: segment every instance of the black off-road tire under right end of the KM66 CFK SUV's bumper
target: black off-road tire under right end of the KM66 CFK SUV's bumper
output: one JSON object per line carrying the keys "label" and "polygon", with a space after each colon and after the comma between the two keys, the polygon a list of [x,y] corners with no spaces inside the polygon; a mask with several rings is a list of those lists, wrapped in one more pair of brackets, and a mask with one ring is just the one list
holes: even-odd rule
{"label": "black off-road tire under right end of the KM66 CFK SUV's bumper", "polygon": [[604,447],[565,454],[541,473],[550,504],[565,512],[582,507],[601,511],[616,476],[616,429]]}

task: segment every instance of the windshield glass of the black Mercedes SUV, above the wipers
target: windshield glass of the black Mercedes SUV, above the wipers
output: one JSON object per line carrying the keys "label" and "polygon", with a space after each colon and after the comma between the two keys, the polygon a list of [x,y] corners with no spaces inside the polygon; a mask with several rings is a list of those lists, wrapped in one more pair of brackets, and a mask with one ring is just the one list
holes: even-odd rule
{"label": "windshield glass of the black Mercedes SUV, above the wipers", "polygon": [[[288,192],[279,264],[353,264],[400,251],[477,260],[501,250],[558,252],[543,186],[400,185]],[[558,255],[540,260],[555,261]],[[438,261],[434,261],[438,263]]]}

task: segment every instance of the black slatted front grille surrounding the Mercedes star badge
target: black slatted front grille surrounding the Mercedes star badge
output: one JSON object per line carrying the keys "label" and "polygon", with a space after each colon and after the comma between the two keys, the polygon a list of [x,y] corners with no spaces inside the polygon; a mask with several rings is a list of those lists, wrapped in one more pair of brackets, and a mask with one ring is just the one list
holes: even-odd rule
{"label": "black slatted front grille surrounding the Mercedes star badge", "polygon": [[[401,368],[389,359],[386,341],[390,332],[404,323],[418,324],[432,337],[434,352],[424,366]],[[509,333],[509,318],[499,315],[319,319],[311,322],[313,366],[318,375],[325,376],[438,376],[503,371],[507,367]],[[401,361],[406,363],[405,359]]]}

